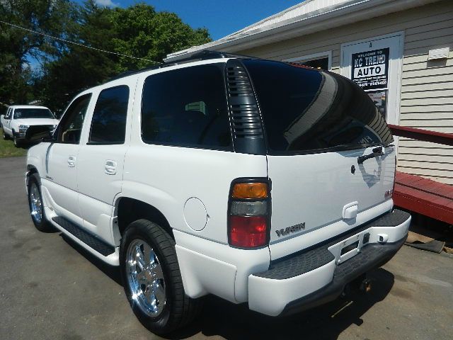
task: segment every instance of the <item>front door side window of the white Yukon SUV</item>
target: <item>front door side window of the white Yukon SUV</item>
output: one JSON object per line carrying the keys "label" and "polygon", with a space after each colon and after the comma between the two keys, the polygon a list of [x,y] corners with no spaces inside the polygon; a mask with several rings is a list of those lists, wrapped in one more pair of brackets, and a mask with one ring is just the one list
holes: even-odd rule
{"label": "front door side window of the white Yukon SUV", "polygon": [[58,141],[63,143],[79,144],[86,109],[90,103],[91,94],[84,94],[76,98],[58,125]]}

